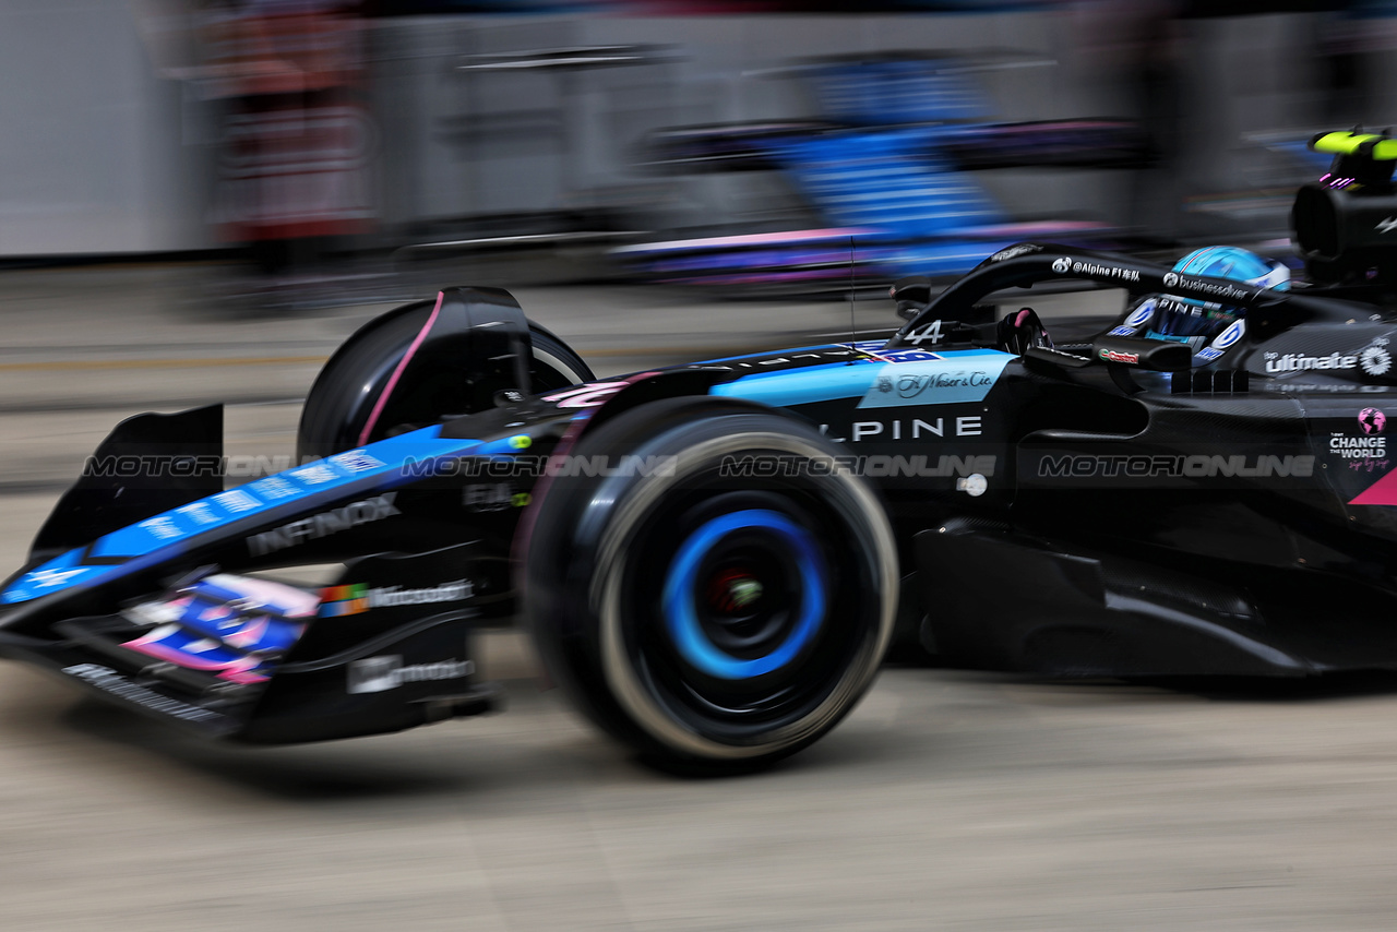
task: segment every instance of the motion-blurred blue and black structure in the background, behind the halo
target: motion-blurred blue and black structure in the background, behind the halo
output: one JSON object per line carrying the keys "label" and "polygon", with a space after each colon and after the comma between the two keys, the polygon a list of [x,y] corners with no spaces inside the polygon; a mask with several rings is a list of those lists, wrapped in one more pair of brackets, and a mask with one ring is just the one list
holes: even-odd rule
{"label": "motion-blurred blue and black structure in the background, behind the halo", "polygon": [[1046,64],[1021,53],[888,52],[812,60],[823,120],[678,127],[651,134],[644,165],[669,173],[777,170],[813,229],[676,238],[616,256],[645,279],[842,288],[863,278],[950,277],[1024,239],[1119,246],[1090,219],[1016,222],[970,170],[1133,168],[1144,134],[1123,120],[990,123],[975,74]]}

